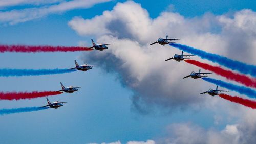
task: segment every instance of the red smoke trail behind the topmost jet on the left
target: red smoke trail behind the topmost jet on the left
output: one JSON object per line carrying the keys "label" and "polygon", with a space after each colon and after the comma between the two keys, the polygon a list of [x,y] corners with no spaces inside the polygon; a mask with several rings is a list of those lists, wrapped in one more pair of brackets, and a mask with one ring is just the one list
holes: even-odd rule
{"label": "red smoke trail behind the topmost jet on the left", "polygon": [[75,52],[75,51],[91,51],[89,47],[74,46],[29,46],[29,45],[0,45],[0,53],[4,52],[20,52],[20,53],[36,53],[36,52]]}

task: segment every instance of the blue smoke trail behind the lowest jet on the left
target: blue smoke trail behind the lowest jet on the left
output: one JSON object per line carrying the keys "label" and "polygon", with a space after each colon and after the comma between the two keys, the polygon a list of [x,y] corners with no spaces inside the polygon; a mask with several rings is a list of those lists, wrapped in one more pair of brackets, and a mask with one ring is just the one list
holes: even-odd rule
{"label": "blue smoke trail behind the lowest jet on the left", "polygon": [[25,107],[25,108],[14,108],[14,109],[0,109],[0,115],[20,113],[20,112],[30,112],[48,109],[49,107]]}

